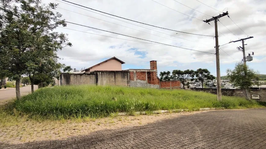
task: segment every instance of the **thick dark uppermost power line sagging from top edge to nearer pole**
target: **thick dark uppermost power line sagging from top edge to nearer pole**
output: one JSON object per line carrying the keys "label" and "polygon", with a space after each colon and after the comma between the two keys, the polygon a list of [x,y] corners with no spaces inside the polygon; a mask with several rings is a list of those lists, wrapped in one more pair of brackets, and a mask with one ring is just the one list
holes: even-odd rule
{"label": "thick dark uppermost power line sagging from top edge to nearer pole", "polygon": [[[62,0],[62,1],[64,1],[64,2],[68,2],[68,1],[66,1],[66,0]],[[79,4],[76,4],[76,3],[72,3],[72,2],[68,2],[68,3],[74,4],[74,5],[78,5],[78,6],[81,6],[81,7],[87,8],[87,9],[91,9],[91,10],[94,10],[94,11],[102,12],[102,11],[99,11],[99,10],[96,10],[96,9],[92,9],[92,8],[89,8],[89,7],[86,7],[86,6],[83,6],[83,5],[79,5]],[[105,13],[105,14],[108,14],[108,15],[111,15],[111,16],[116,16],[116,15],[112,15],[112,14],[110,14],[110,13],[106,13],[106,12],[102,12],[102,13]],[[180,13],[181,13],[181,12],[180,12]],[[116,16],[116,17],[118,17],[118,18],[122,18],[122,19],[125,19],[125,20],[130,20],[130,21],[137,22],[137,23],[141,23],[141,24],[145,24],[145,25],[149,25],[149,26],[152,26],[152,27],[157,27],[157,28],[161,28],[161,29],[165,29],[165,30],[172,30],[172,29],[167,29],[167,28],[164,28],[164,27],[158,27],[158,26],[154,26],[154,25],[147,24],[147,23],[142,23],[142,22],[134,21],[134,20],[127,19],[127,18],[124,18],[124,17],[120,17],[120,16]],[[199,19],[198,19],[198,20],[199,20]],[[186,34],[193,34],[193,33],[187,33],[187,32],[177,31],[177,30],[172,30],[172,31],[180,32],[180,33],[186,33]],[[213,36],[211,36],[211,35],[202,35],[202,34],[193,34],[193,35],[200,35],[200,36],[209,36],[209,37],[213,37]]]}

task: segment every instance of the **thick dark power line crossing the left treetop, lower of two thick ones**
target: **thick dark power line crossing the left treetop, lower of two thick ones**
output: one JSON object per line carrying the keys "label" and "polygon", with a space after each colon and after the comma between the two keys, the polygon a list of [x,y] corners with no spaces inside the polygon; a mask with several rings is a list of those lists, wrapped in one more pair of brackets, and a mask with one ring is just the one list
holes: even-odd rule
{"label": "thick dark power line crossing the left treetop, lower of two thick ones", "polygon": [[[25,11],[22,11],[22,10],[18,10],[18,11],[25,12]],[[25,13],[29,13],[29,12],[25,12]],[[42,16],[42,15],[38,15],[38,14],[34,14],[34,13],[29,13],[29,14],[36,15],[36,16]],[[56,19],[56,18],[51,18],[51,17],[48,17],[48,16],[42,16],[42,17],[46,17],[46,18],[49,18],[49,19],[54,19],[54,20],[57,20],[57,21],[63,21],[63,22],[66,22],[66,23],[71,23],[71,24],[82,26],[82,27],[88,27],[88,28],[92,28],[92,29],[95,29],[95,30],[102,30],[102,29],[98,29],[98,28],[95,28],[95,27],[89,27],[89,26],[86,26],[86,25],[78,24],[78,23],[68,22],[68,21],[60,20],[60,19]],[[142,39],[142,38],[138,38],[138,37],[133,37],[133,36],[128,36],[128,35],[124,35],[124,34],[119,34],[119,33],[111,32],[111,31],[107,31],[107,30],[102,30],[102,31],[113,33],[113,34],[117,34],[117,35],[122,35],[122,36],[126,36],[126,37],[136,38],[136,39],[140,39],[140,40],[144,40],[144,41],[150,41],[150,40],[146,40],[146,39]],[[150,41],[150,42],[154,42],[154,43],[157,43],[157,44],[164,44],[164,43],[160,43],[160,42],[156,42],[156,41]],[[170,45],[170,44],[164,44],[164,45],[177,47],[177,48],[182,48],[182,49],[187,49],[187,50],[191,50],[191,51],[198,51],[198,50],[183,48],[183,47],[174,46],[174,45]],[[204,52],[204,51],[198,51],[198,52],[214,54],[214,53]]]}

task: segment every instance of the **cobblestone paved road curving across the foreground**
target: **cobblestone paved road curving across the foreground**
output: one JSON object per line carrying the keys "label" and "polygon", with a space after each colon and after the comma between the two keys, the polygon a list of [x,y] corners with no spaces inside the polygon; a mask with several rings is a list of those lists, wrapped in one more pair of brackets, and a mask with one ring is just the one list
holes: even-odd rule
{"label": "cobblestone paved road curving across the foreground", "polygon": [[266,149],[266,109],[210,111],[67,140],[2,144],[0,148]]}

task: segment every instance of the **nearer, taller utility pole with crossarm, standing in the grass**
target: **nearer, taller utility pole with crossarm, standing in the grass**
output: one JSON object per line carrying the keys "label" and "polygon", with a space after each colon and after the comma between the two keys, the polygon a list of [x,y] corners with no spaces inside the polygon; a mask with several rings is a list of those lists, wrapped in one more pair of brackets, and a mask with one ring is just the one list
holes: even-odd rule
{"label": "nearer, taller utility pole with crossarm, standing in the grass", "polygon": [[[205,23],[209,23],[210,21],[214,21],[215,24],[215,48],[216,48],[216,73],[217,73],[217,99],[220,101],[222,100],[222,87],[221,87],[221,74],[220,74],[220,54],[219,54],[219,43],[218,43],[218,27],[217,21],[219,18],[223,16],[227,16],[227,12],[223,12],[218,16],[212,17],[209,20],[203,21]],[[209,23],[210,24],[210,23]]]}

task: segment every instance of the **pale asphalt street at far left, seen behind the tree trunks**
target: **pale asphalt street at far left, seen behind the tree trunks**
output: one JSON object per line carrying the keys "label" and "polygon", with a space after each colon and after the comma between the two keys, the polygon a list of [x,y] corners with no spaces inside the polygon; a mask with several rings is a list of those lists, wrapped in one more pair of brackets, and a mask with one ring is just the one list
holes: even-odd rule
{"label": "pale asphalt street at far left, seen behind the tree trunks", "polygon": [[[34,90],[38,89],[37,85],[34,85]],[[31,86],[26,86],[26,87],[20,87],[20,94],[26,95],[28,93],[31,93]],[[0,100],[4,99],[10,99],[10,98],[15,98],[16,97],[16,89],[15,88],[9,88],[7,90],[0,90]]]}

